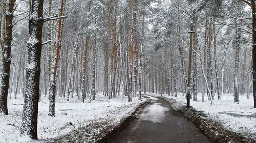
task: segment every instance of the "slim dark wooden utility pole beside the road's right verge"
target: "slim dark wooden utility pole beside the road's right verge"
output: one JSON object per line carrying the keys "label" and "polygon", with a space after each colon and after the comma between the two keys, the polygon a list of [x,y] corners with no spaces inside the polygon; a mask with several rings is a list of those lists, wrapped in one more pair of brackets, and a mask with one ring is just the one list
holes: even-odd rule
{"label": "slim dark wooden utility pole beside the road's right verge", "polygon": [[189,56],[188,56],[188,72],[187,72],[187,108],[190,107],[190,82],[191,82],[191,62],[192,62],[192,46],[193,46],[193,33],[194,31],[194,23],[190,23],[190,43],[189,43]]}

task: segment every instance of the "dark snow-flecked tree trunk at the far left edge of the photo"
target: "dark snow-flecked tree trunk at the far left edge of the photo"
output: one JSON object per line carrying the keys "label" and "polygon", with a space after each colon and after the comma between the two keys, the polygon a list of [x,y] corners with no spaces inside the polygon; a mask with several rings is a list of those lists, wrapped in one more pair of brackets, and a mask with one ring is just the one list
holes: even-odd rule
{"label": "dark snow-flecked tree trunk at the far left edge of the photo", "polygon": [[1,41],[2,46],[2,66],[0,79],[0,112],[8,115],[7,96],[9,90],[10,66],[11,66],[11,48],[12,48],[12,19],[15,5],[15,0],[8,1],[5,4],[3,11],[5,13],[5,23],[3,26],[4,40]]}

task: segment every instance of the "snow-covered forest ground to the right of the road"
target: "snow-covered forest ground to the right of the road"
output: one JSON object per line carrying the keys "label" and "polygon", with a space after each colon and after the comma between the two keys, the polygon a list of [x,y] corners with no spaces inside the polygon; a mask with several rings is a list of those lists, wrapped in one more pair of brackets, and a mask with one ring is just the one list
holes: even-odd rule
{"label": "snow-covered forest ground to the right of the road", "polygon": [[[156,95],[156,94],[150,94]],[[173,98],[178,102],[186,105],[186,99],[182,94],[178,97],[168,96],[163,94],[166,98]],[[202,101],[202,94],[198,95],[198,102],[190,100],[190,106],[198,111],[203,111],[209,118],[220,122],[226,129],[241,133],[245,136],[256,137],[256,118],[250,118],[250,115],[256,112],[253,108],[253,97],[246,99],[247,95],[240,95],[240,103],[234,103],[232,94],[224,94],[221,100],[214,100],[213,105],[210,106],[210,101],[205,96],[205,102]],[[217,98],[217,96],[215,97]]]}

